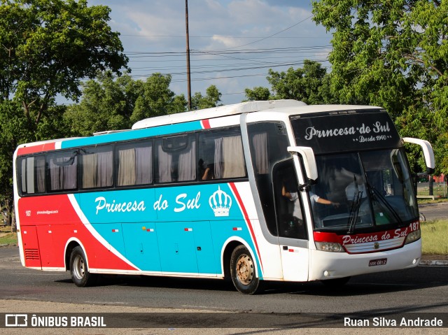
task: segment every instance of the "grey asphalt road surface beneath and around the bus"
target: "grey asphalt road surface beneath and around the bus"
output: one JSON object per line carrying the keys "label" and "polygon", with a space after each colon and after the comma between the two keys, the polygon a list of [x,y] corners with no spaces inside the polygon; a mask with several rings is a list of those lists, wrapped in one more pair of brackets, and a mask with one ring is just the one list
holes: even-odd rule
{"label": "grey asphalt road surface beneath and around the bus", "polygon": [[261,313],[448,312],[448,266],[351,278],[339,290],[321,283],[271,283],[247,296],[223,280],[111,276],[76,287],[69,272],[25,269],[18,248],[0,248],[0,299],[70,304]]}

